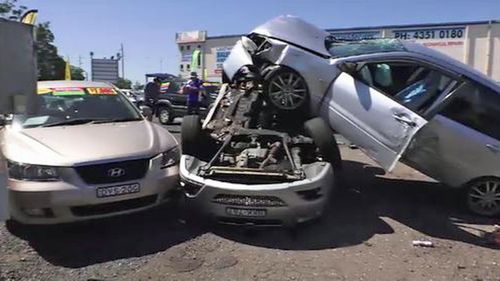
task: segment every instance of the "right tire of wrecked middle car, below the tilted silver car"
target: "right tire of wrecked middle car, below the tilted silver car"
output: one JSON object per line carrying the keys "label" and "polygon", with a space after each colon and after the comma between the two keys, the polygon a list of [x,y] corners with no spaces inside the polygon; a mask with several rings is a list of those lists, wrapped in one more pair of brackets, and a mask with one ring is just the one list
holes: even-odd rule
{"label": "right tire of wrecked middle car, below the tilted silver car", "polygon": [[316,117],[304,123],[304,130],[310,136],[320,153],[335,171],[342,169],[342,158],[332,129],[321,118]]}

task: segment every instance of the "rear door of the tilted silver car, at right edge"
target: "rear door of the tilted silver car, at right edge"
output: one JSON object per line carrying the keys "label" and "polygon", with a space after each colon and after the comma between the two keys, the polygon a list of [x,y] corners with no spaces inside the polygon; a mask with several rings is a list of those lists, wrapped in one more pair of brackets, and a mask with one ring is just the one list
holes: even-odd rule
{"label": "rear door of the tilted silver car, at right edge", "polygon": [[406,151],[410,165],[450,186],[500,177],[500,93],[472,81],[443,101]]}

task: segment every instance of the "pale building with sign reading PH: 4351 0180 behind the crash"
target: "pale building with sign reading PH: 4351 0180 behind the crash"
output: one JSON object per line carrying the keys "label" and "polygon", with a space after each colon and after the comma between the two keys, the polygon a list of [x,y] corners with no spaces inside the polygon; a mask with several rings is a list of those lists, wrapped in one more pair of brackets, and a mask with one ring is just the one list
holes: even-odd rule
{"label": "pale building with sign reading PH: 4351 0180 behind the crash", "polygon": [[[339,39],[399,38],[438,50],[500,81],[500,21],[453,22],[327,29]],[[243,34],[242,34],[243,35]],[[196,71],[222,80],[222,63],[242,35],[208,37],[206,31],[176,34],[179,74]]]}

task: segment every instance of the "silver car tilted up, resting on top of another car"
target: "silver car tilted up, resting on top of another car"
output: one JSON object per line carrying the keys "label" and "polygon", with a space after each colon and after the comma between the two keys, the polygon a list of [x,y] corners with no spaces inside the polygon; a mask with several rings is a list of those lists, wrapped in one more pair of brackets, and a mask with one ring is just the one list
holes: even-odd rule
{"label": "silver car tilted up, resting on top of another car", "polygon": [[252,73],[276,110],[321,116],[386,170],[402,160],[463,188],[471,211],[500,213],[500,86],[471,67],[416,43],[342,41],[281,16],[242,37],[224,72]]}

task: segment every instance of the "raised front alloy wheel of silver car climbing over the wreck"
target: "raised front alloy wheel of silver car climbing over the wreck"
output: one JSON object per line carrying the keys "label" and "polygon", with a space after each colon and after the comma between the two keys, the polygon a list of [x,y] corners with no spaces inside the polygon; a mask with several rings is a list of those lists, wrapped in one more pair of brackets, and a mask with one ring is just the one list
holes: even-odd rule
{"label": "raised front alloy wheel of silver car climbing over the wreck", "polygon": [[309,90],[305,79],[287,67],[269,66],[262,70],[267,102],[281,111],[296,112],[307,109]]}

